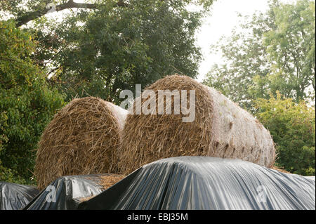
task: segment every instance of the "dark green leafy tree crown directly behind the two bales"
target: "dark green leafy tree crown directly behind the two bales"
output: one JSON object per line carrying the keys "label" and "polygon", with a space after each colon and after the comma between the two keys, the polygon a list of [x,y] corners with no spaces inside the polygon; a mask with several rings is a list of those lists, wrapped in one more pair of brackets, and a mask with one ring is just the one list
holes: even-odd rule
{"label": "dark green leafy tree crown directly behind the two bales", "polygon": [[38,32],[53,41],[41,45],[37,60],[53,58],[51,81],[68,99],[94,95],[118,102],[119,91],[133,91],[135,84],[145,88],[175,72],[196,77],[202,55],[195,31],[202,13],[187,11],[187,2],[131,0],[131,6],[117,8],[117,1],[100,1],[96,11],[77,11],[60,25],[46,23],[46,29],[58,28]]}

